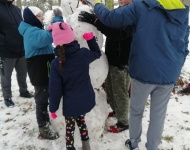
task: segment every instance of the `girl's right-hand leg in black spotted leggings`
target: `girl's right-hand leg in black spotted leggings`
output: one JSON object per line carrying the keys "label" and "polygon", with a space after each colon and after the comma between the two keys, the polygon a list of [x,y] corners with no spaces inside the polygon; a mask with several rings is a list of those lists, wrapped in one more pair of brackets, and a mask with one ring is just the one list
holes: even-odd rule
{"label": "girl's right-hand leg in black spotted leggings", "polygon": [[82,141],[87,141],[89,139],[88,137],[88,129],[86,126],[86,122],[84,120],[85,115],[81,115],[76,118],[77,125],[79,127],[80,135],[81,135],[81,140]]}

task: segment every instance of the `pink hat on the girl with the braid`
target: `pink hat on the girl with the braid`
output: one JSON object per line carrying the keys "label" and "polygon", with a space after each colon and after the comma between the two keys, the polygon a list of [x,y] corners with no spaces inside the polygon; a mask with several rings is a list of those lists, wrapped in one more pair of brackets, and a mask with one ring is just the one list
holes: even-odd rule
{"label": "pink hat on the girl with the braid", "polygon": [[65,22],[56,22],[47,28],[52,31],[55,46],[69,44],[75,40],[75,34],[70,25]]}

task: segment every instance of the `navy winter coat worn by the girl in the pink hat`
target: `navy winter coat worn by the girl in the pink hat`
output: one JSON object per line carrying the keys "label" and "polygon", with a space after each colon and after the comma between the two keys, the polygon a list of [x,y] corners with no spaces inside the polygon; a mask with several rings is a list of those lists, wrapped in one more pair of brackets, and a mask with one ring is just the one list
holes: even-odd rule
{"label": "navy winter coat worn by the girl in the pink hat", "polygon": [[[64,45],[65,62],[59,70],[59,59],[51,63],[49,80],[49,110],[56,112],[63,96],[63,115],[77,117],[95,106],[95,93],[89,76],[89,64],[101,56],[95,38],[87,41],[89,49],[80,48],[77,41]],[[98,66],[97,66],[98,67]]]}

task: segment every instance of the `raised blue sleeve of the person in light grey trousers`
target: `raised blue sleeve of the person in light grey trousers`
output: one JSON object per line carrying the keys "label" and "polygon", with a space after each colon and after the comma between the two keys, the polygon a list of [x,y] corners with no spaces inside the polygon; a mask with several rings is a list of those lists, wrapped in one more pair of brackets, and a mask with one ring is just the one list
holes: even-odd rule
{"label": "raised blue sleeve of the person in light grey trousers", "polygon": [[103,4],[96,4],[94,12],[104,25],[112,28],[124,28],[136,21],[134,2],[112,10]]}

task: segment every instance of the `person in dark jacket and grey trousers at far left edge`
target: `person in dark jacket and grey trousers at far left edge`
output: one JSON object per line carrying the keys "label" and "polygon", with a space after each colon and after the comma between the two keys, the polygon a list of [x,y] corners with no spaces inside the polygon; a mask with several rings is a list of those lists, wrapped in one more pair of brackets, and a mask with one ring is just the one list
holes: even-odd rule
{"label": "person in dark jacket and grey trousers at far left edge", "polygon": [[13,107],[11,76],[16,71],[20,97],[32,98],[27,90],[27,69],[24,57],[22,36],[18,26],[22,21],[21,10],[13,4],[14,0],[0,0],[0,74],[4,103]]}

